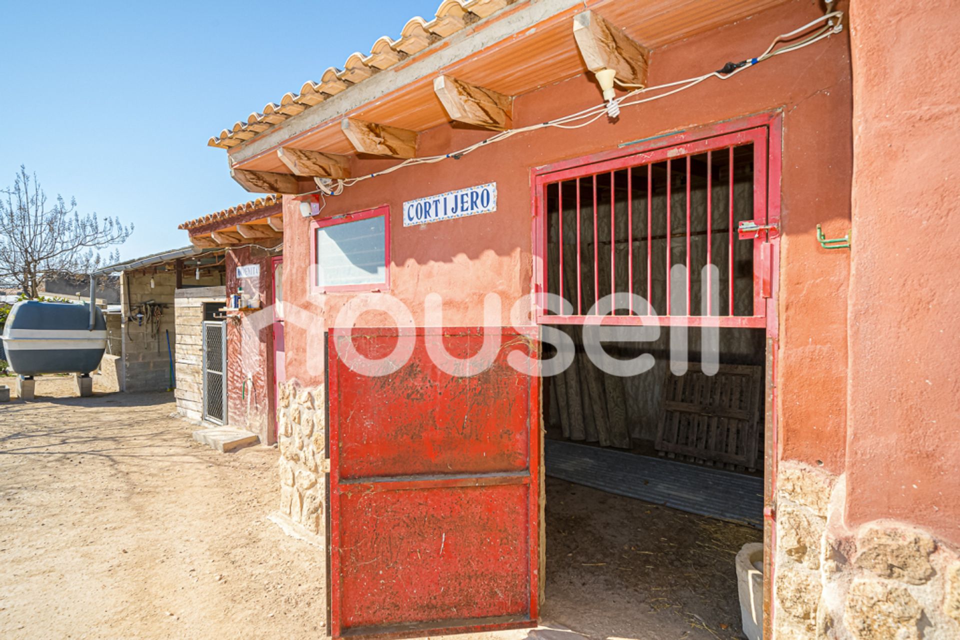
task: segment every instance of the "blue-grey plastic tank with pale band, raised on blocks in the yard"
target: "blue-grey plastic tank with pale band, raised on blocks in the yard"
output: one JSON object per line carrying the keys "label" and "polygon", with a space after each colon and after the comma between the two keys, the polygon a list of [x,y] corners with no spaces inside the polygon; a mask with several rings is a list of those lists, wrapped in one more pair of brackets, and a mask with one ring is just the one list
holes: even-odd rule
{"label": "blue-grey plastic tank with pale band, raised on blocks in the yard", "polygon": [[94,309],[93,330],[86,304],[22,300],[4,328],[7,362],[19,375],[90,373],[107,350],[107,321]]}

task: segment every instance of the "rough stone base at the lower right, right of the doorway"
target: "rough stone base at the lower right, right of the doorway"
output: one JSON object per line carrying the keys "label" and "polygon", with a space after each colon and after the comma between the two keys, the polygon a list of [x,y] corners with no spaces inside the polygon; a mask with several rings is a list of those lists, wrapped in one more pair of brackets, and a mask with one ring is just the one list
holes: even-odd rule
{"label": "rough stone base at the lower right, right of the doorway", "polygon": [[781,463],[776,640],[960,638],[960,557],[900,522],[849,531],[845,499],[843,476]]}

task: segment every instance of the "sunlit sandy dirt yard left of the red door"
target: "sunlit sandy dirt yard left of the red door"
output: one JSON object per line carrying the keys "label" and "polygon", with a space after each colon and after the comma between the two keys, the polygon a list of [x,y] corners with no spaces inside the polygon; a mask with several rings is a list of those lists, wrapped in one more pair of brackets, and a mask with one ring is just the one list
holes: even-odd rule
{"label": "sunlit sandy dirt yard left of the red door", "polygon": [[201,446],[172,393],[71,392],[0,404],[0,637],[324,634],[322,552],[266,519],[276,449]]}

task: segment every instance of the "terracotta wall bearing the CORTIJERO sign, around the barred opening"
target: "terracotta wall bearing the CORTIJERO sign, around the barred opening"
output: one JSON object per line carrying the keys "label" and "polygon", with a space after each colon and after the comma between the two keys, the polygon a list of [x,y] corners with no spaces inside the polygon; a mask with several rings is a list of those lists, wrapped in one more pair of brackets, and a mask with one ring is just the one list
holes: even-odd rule
{"label": "terracotta wall bearing the CORTIJERO sign, around the barred opening", "polygon": [[[699,75],[728,60],[756,56],[774,36],[821,14],[815,3],[797,1],[661,48],[653,54],[650,83]],[[587,77],[546,86],[516,100],[516,124],[542,122],[595,105],[599,98]],[[322,215],[391,206],[390,293],[408,302],[419,322],[424,296],[439,292],[445,300],[444,322],[479,324],[483,296],[495,292],[504,300],[507,323],[510,305],[531,289],[532,167],[616,149],[667,131],[782,109],[781,455],[842,472],[849,256],[820,249],[815,227],[823,223],[828,233],[838,233],[850,225],[851,100],[849,40],[844,33],[757,65],[730,81],[709,81],[661,102],[628,107],[616,124],[604,119],[581,130],[521,134],[460,160],[373,178],[328,198]],[[420,135],[420,153],[448,153],[487,135],[444,126]],[[394,163],[358,161],[354,175]],[[494,180],[499,194],[495,213],[402,226],[403,201]],[[308,221],[297,206],[289,200],[284,205],[287,377],[314,387],[324,377],[322,320],[334,318],[348,296],[308,295]]]}

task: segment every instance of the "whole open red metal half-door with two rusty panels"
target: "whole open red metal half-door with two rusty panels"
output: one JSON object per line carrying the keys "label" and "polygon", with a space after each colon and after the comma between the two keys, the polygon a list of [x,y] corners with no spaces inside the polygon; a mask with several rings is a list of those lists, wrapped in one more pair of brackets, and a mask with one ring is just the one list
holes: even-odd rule
{"label": "whole open red metal half-door with two rusty panels", "polygon": [[536,346],[487,330],[501,333],[500,350],[470,377],[444,373],[425,342],[466,358],[481,329],[417,329],[408,363],[378,377],[338,354],[352,340],[367,358],[389,355],[396,329],[330,332],[334,637],[536,624],[540,388],[507,362]]}

